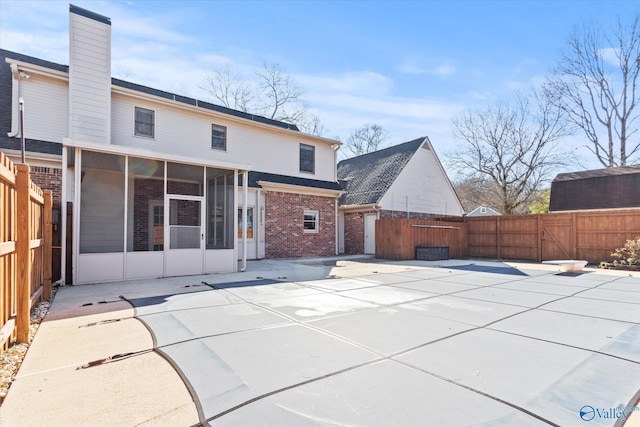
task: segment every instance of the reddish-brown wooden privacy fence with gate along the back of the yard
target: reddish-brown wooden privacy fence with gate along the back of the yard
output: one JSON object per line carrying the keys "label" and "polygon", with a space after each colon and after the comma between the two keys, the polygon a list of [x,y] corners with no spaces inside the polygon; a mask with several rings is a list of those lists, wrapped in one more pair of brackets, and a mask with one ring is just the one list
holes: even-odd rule
{"label": "reddish-brown wooden privacy fence with gate along the back of the yard", "polygon": [[466,217],[459,223],[378,220],[376,256],[414,259],[415,246],[447,245],[451,258],[599,263],[612,260],[611,252],[637,237],[640,209]]}

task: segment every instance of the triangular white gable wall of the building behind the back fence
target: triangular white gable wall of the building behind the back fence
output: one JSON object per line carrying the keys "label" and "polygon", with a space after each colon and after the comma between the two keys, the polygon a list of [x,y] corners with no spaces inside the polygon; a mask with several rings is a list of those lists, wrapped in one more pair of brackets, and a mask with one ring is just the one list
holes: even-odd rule
{"label": "triangular white gable wall of the building behind the back fence", "polygon": [[385,210],[459,216],[464,213],[435,152],[419,148],[380,201]]}

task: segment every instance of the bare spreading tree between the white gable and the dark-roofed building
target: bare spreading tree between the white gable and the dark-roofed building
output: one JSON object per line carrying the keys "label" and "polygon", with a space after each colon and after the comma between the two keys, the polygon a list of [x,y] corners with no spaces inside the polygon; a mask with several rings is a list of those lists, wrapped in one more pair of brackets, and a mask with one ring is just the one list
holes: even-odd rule
{"label": "bare spreading tree between the white gable and the dark-roofed building", "polygon": [[452,129],[462,144],[451,166],[466,178],[489,180],[500,202],[495,207],[505,214],[523,212],[554,169],[568,160],[557,152],[567,125],[542,93],[465,112]]}

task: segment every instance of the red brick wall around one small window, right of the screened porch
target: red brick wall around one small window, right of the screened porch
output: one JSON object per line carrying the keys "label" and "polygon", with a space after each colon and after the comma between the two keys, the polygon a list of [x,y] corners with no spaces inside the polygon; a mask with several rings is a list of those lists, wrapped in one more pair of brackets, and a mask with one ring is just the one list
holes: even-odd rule
{"label": "red brick wall around one small window, right of the screened porch", "polygon": [[[269,192],[265,195],[265,255],[267,258],[330,256],[336,253],[335,199]],[[306,209],[319,212],[318,233],[305,233]]]}

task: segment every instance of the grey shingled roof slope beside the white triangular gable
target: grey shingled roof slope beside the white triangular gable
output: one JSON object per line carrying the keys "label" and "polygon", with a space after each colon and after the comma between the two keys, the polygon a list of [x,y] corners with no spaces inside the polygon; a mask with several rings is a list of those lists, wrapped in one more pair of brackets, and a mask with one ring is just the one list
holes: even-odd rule
{"label": "grey shingled roof slope beside the white triangular gable", "polygon": [[338,180],[346,191],[340,204],[378,203],[426,139],[420,137],[339,162]]}

